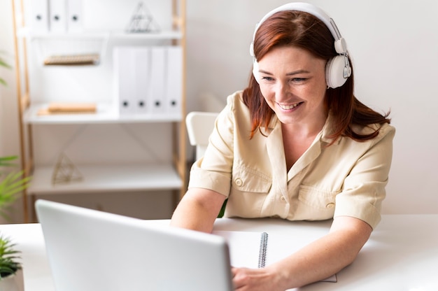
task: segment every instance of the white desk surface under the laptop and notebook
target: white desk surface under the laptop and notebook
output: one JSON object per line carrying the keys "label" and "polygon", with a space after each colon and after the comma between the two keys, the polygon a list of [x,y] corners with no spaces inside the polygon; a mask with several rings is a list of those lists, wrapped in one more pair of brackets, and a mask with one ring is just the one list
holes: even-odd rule
{"label": "white desk surface under the laptop and notebook", "polygon": [[[169,224],[169,220],[145,220],[146,224]],[[239,230],[285,234],[294,247],[323,236],[330,221],[220,219],[216,230]],[[337,274],[337,283],[319,282],[299,290],[438,290],[438,215],[383,215],[353,264]],[[25,291],[54,291],[41,227],[38,224],[0,225],[22,250]]]}

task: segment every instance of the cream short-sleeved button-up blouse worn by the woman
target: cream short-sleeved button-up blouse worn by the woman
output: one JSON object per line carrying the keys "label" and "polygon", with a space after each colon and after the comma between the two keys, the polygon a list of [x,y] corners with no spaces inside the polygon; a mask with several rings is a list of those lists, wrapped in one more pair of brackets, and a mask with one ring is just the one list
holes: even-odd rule
{"label": "cream short-sleeved button-up blouse worn by the woman", "polygon": [[236,92],[216,120],[204,157],[192,166],[189,188],[228,197],[225,217],[326,220],[344,215],[374,228],[386,196],[395,128],[385,124],[372,140],[341,137],[328,146],[331,125],[329,115],[311,146],[287,172],[281,122],[274,116],[268,128],[249,139],[250,113],[242,92]]}

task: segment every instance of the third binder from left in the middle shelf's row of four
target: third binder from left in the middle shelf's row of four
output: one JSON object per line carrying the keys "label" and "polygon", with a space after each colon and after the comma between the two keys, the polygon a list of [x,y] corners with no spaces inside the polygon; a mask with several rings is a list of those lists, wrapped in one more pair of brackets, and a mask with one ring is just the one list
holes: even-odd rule
{"label": "third binder from left in the middle shelf's row of four", "polygon": [[164,80],[165,80],[165,47],[153,46],[150,48],[150,113],[165,112]]}

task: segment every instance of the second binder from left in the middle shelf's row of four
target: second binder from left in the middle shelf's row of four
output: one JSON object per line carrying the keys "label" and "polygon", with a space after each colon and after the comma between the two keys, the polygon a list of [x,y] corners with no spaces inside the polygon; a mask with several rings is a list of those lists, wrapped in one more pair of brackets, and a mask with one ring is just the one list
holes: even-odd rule
{"label": "second binder from left in the middle shelf's row of four", "polygon": [[150,87],[150,50],[147,47],[136,48],[134,64],[135,92],[134,112],[148,113],[148,87]]}

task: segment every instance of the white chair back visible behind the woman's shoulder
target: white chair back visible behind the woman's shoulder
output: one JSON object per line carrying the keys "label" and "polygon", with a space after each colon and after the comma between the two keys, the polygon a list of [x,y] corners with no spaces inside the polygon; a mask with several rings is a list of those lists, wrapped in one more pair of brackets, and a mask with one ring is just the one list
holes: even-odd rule
{"label": "white chair back visible behind the woman's shoulder", "polygon": [[214,122],[219,113],[192,111],[185,117],[189,141],[196,146],[196,159],[202,157],[209,145],[209,136],[213,132]]}

